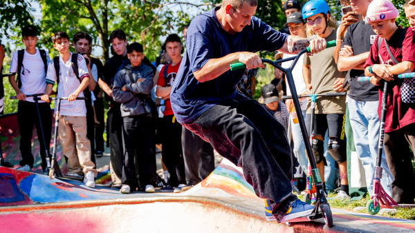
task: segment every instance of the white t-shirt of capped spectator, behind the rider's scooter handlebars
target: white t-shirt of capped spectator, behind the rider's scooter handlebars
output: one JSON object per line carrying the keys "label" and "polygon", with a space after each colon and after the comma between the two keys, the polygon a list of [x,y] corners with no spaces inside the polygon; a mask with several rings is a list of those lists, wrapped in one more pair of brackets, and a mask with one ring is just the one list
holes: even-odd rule
{"label": "white t-shirt of capped spectator, behind the rider's scooter handlebars", "polygon": [[[294,56],[297,56],[297,55],[284,53],[283,59],[288,59]],[[297,94],[301,94],[306,91],[306,83],[304,82],[304,78],[302,75],[303,64],[302,62],[299,62],[299,61],[302,61],[303,59],[304,59],[304,54],[302,54],[301,57],[299,57],[298,62],[297,64],[295,64],[294,69],[293,69],[293,78],[294,78],[295,88],[297,89]],[[289,68],[291,64],[293,64],[293,61],[286,61],[282,63],[282,68],[285,68],[285,69]],[[286,80],[286,85],[287,85],[287,95],[291,96],[291,90],[289,88],[287,80]],[[307,99],[303,99],[302,101],[300,101],[300,104],[301,104],[301,110],[307,110]]]}

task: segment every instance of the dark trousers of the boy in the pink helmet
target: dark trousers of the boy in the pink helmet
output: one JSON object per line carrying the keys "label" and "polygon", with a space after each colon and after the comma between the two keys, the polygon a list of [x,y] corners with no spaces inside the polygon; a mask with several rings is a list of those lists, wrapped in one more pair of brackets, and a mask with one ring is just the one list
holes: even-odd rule
{"label": "dark trousers of the boy in the pink helmet", "polygon": [[414,204],[415,185],[409,145],[415,155],[415,123],[385,133],[383,140],[387,165],[394,176],[392,198],[397,203]]}

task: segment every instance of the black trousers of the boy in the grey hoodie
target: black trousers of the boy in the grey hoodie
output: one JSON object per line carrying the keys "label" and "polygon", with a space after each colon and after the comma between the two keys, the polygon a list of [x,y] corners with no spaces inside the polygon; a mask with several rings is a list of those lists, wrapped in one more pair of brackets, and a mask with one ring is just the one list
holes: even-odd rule
{"label": "black trousers of the boy in the grey hoodie", "polygon": [[145,114],[123,117],[122,142],[124,145],[124,165],[122,184],[129,185],[131,191],[138,188],[134,151],[138,163],[140,185],[151,185],[156,174],[156,144],[154,143],[154,122]]}

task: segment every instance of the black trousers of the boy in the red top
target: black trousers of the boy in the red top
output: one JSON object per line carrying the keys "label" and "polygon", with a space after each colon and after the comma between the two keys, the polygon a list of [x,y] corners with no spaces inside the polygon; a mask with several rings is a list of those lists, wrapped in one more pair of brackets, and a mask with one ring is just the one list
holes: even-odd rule
{"label": "black trousers of the boy in the red top", "polygon": [[169,185],[177,187],[186,183],[185,162],[183,161],[181,132],[182,126],[176,120],[172,122],[174,115],[164,116],[160,128],[163,163],[169,170]]}

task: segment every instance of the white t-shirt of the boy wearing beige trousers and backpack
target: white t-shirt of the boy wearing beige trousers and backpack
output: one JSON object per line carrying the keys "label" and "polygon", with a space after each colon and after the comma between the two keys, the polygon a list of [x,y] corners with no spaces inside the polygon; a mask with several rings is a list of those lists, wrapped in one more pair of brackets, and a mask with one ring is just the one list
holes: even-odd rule
{"label": "white t-shirt of the boy wearing beige trousers and backpack", "polygon": [[[69,60],[64,63],[62,57],[59,56],[59,84],[57,85],[57,97],[69,97],[70,94],[75,92],[75,90],[80,86],[80,81],[75,76],[75,72],[72,69],[72,53]],[[80,79],[89,77],[88,68],[86,67],[86,62],[82,55],[78,54],[77,57],[78,63],[78,72],[80,74]],[[56,81],[56,71],[53,60],[49,63],[48,74],[46,75],[46,83],[54,84]],[[86,87],[88,88],[88,87]],[[84,97],[84,93],[81,92],[78,97]],[[63,116],[72,116],[72,117],[86,117],[86,106],[84,100],[76,100],[68,102],[67,100],[61,101],[60,114]]]}

